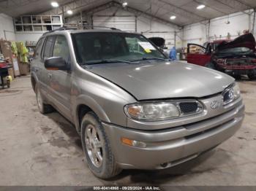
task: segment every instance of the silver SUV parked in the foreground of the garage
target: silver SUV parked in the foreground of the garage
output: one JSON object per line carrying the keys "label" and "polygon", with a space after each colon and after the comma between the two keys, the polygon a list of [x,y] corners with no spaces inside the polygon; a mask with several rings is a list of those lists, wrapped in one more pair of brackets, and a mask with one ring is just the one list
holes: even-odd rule
{"label": "silver SUV parked in the foreground of the garage", "polygon": [[244,119],[232,77],[169,61],[145,36],[120,30],[44,34],[31,83],[41,113],[54,107],[75,124],[89,168],[102,179],[195,158]]}

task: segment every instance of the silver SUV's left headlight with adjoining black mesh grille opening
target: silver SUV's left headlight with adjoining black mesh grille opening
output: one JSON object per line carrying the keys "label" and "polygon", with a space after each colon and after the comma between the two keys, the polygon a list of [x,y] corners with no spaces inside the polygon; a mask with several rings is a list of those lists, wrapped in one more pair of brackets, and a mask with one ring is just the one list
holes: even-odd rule
{"label": "silver SUV's left headlight with adjoining black mesh grille opening", "polygon": [[[181,105],[181,103],[188,105],[184,106]],[[192,111],[191,108],[194,110]],[[128,117],[136,120],[149,121],[183,117],[188,114],[197,114],[202,111],[203,106],[198,101],[137,103],[124,106],[124,112]]]}

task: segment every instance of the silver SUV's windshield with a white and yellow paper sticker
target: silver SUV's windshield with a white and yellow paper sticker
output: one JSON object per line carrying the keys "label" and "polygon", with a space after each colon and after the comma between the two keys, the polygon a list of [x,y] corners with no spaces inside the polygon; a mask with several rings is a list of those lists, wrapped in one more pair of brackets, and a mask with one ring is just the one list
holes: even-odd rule
{"label": "silver SUV's windshield with a white and yellow paper sticker", "polygon": [[86,32],[73,34],[80,64],[161,60],[165,55],[140,34]]}

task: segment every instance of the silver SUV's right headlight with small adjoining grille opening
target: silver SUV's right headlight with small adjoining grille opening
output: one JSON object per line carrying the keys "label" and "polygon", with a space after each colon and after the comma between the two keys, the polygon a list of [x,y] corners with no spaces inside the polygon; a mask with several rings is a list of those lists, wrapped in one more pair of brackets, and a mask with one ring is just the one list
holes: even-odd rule
{"label": "silver SUV's right headlight with small adjoining grille opening", "polygon": [[230,85],[230,87],[227,87],[226,90],[222,93],[223,96],[223,104],[229,104],[232,101],[235,101],[237,98],[240,97],[240,89],[238,84],[234,83],[233,85]]}

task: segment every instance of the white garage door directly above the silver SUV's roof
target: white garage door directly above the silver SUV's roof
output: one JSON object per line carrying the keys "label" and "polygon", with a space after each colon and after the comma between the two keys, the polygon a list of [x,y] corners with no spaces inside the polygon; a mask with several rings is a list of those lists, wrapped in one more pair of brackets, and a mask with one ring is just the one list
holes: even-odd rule
{"label": "white garage door directly above the silver SUV's roof", "polygon": [[134,16],[122,16],[122,17],[105,17],[94,16],[94,26],[106,26],[121,29],[122,31],[136,31],[136,22]]}

